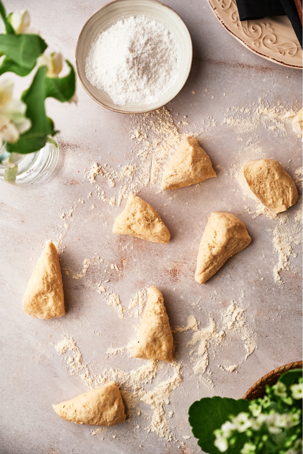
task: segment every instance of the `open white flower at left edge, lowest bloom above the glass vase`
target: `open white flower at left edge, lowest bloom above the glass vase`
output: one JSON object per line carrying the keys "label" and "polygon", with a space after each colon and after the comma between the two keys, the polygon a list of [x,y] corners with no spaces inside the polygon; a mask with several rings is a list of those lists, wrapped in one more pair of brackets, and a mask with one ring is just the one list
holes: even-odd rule
{"label": "open white flower at left edge, lowest bloom above the glass vase", "polygon": [[26,105],[12,99],[13,85],[10,80],[0,83],[0,146],[17,142],[20,134],[31,127],[30,119],[25,117]]}

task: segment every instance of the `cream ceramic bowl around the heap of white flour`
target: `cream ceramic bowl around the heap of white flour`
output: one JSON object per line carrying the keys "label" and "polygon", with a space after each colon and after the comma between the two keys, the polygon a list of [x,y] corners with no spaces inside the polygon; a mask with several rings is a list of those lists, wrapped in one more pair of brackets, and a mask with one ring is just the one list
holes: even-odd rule
{"label": "cream ceramic bowl around the heap of white flour", "polygon": [[[153,104],[133,103],[119,106],[104,91],[89,83],[85,77],[85,59],[89,49],[99,34],[114,25],[122,16],[126,19],[132,15],[145,15],[166,25],[176,35],[182,52],[179,78],[163,97]],[[189,30],[180,16],[169,6],[157,0],[115,0],[102,6],[85,22],[75,46],[76,72],[84,90],[101,106],[123,114],[143,114],[168,104],[183,88],[191,68],[193,46]]]}

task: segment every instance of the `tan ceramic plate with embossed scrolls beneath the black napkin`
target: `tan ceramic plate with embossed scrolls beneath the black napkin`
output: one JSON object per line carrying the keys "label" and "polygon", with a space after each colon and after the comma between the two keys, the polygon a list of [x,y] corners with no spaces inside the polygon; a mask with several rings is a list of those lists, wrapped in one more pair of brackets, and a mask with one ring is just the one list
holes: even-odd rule
{"label": "tan ceramic plate with embossed scrolls beneath the black napkin", "polygon": [[260,57],[303,69],[302,49],[287,16],[240,21],[233,0],[208,0],[214,15],[234,38]]}

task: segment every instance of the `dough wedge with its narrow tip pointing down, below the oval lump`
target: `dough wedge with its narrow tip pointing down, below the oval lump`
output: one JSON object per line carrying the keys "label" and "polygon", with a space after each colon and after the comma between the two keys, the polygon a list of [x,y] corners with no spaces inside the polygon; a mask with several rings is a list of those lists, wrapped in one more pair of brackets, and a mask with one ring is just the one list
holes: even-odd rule
{"label": "dough wedge with its narrow tip pointing down, below the oval lump", "polygon": [[238,217],[231,213],[211,213],[199,246],[196,281],[205,284],[229,257],[250,242],[251,237]]}

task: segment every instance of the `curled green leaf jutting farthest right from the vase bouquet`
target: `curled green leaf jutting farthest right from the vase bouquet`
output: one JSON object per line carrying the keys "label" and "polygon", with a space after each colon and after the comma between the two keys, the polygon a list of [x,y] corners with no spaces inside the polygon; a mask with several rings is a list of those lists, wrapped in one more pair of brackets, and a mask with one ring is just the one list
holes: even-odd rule
{"label": "curled green leaf jutting farthest right from the vase bouquet", "polygon": [[55,98],[64,103],[70,101],[75,93],[75,71],[68,60],[65,60],[70,67],[70,73],[65,77],[46,78],[46,98]]}

